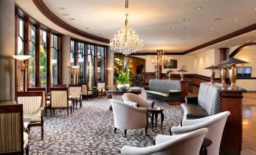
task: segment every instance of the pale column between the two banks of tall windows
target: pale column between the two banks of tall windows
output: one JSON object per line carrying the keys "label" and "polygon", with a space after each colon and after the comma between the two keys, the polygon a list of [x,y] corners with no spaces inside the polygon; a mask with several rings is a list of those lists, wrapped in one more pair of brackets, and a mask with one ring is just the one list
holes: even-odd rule
{"label": "pale column between the two banks of tall windows", "polygon": [[70,36],[62,36],[62,84],[70,84]]}

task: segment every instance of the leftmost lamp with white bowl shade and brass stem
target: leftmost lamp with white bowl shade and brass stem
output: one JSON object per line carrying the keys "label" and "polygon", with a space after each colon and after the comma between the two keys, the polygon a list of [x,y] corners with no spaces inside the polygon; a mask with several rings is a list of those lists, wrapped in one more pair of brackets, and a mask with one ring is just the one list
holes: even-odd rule
{"label": "leftmost lamp with white bowl shade and brass stem", "polygon": [[[17,74],[17,79],[18,79],[18,92],[20,92],[20,87],[21,87],[21,73],[26,72],[27,64],[24,62],[24,60],[29,59],[31,56],[29,55],[14,55],[12,56],[14,59],[18,60],[18,74]],[[26,79],[25,79],[26,80]]]}

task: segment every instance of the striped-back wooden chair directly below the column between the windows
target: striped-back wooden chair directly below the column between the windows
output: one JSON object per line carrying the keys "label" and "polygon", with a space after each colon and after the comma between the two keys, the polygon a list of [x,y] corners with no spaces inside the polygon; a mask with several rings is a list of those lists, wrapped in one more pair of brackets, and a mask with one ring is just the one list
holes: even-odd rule
{"label": "striped-back wooden chair directly below the column between the windows", "polygon": [[51,109],[66,108],[66,113],[69,116],[69,107],[72,114],[72,102],[69,101],[67,87],[51,87]]}

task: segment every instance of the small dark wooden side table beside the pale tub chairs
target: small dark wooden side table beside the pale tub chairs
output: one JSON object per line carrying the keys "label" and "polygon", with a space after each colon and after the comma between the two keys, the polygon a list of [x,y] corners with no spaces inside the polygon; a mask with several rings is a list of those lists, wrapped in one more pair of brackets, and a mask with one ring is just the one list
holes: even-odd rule
{"label": "small dark wooden side table beside the pale tub chairs", "polygon": [[158,114],[161,114],[161,130],[162,130],[162,123],[163,123],[164,117],[165,117],[165,115],[162,113],[162,111],[164,111],[164,109],[163,108],[159,108],[159,107],[147,108],[147,111],[149,111],[151,113],[151,127],[152,127],[152,131],[153,131],[153,126],[154,126],[154,116],[155,116],[155,119],[156,119],[156,127],[157,127],[157,117],[158,117]]}

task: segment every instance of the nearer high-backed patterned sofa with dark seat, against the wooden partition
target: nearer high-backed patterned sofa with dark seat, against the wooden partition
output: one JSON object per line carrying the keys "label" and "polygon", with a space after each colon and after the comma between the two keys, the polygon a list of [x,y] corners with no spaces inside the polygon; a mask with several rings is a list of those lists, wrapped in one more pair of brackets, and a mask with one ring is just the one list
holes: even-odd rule
{"label": "nearer high-backed patterned sofa with dark seat, against the wooden partition", "polygon": [[201,83],[199,95],[185,97],[185,103],[180,105],[184,114],[184,120],[193,120],[221,112],[221,87]]}

